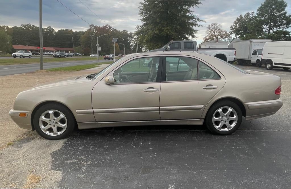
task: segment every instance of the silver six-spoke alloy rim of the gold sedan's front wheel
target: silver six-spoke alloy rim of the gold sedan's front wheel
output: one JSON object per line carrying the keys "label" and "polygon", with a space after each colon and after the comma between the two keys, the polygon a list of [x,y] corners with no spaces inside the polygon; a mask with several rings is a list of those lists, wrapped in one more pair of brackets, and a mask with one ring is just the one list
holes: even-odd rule
{"label": "silver six-spoke alloy rim of the gold sedan's front wheel", "polygon": [[67,118],[58,110],[47,110],[39,118],[40,129],[47,135],[60,135],[66,130],[67,125]]}

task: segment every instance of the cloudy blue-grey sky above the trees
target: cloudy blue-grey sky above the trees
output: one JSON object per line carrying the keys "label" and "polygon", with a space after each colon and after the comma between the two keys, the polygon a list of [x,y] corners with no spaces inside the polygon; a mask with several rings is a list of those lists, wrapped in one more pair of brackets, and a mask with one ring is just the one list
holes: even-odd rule
{"label": "cloudy blue-grey sky above the trees", "polygon": [[[133,32],[141,24],[138,15],[141,0],[81,0],[87,7],[100,18],[88,10],[79,0],[59,0],[74,11],[88,23],[95,25],[110,24],[118,30]],[[202,1],[199,7],[194,7],[194,14],[205,27],[197,28],[198,43],[205,36],[206,26],[217,22],[226,31],[230,30],[233,21],[246,12],[254,11],[264,0],[207,0]],[[285,0],[286,1],[286,0]],[[291,14],[291,2],[288,3],[287,12]],[[74,31],[86,30],[88,24],[70,12],[56,0],[43,0],[43,27],[52,26],[55,30],[72,29]],[[38,0],[0,0],[0,25],[20,26],[33,24],[39,26],[39,1]]]}

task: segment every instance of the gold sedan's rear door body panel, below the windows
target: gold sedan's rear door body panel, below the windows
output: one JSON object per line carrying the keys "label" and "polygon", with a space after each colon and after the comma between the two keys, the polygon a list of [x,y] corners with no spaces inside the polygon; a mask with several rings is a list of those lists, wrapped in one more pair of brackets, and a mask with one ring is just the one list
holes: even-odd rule
{"label": "gold sedan's rear door body panel, below the windows", "polygon": [[[160,116],[162,120],[200,119],[206,104],[221,90],[225,79],[162,82]],[[205,86],[216,89],[203,89]],[[169,108],[170,107],[170,108]]]}

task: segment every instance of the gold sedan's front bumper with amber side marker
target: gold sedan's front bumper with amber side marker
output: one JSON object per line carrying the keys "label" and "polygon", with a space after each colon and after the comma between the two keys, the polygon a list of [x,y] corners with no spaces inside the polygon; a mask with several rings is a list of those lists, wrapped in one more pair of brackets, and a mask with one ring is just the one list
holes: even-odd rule
{"label": "gold sedan's front bumper with amber side marker", "polygon": [[[26,117],[20,117],[20,113],[26,113]],[[9,111],[9,116],[11,119],[21,128],[33,130],[31,126],[31,111],[23,111],[23,110],[13,110]]]}

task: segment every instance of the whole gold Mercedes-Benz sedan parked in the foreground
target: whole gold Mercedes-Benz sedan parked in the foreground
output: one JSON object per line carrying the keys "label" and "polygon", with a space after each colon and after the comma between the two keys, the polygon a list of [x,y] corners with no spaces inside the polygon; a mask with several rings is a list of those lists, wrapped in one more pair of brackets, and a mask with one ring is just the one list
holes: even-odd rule
{"label": "whole gold Mercedes-Benz sedan parked in the foreground", "polygon": [[74,127],[202,125],[228,135],[246,120],[272,115],[278,76],[241,70],[212,56],[182,52],[129,54],[97,74],[19,93],[10,117],[47,139]]}

